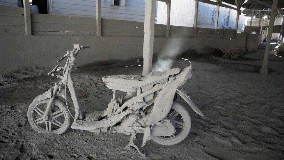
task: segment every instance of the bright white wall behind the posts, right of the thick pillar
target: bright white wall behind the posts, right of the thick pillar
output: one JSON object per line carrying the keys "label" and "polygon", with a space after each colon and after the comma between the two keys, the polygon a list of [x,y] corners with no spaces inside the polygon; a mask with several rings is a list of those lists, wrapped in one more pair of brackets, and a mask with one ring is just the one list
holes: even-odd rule
{"label": "bright white wall behind the posts, right of the thick pillar", "polygon": [[[226,3],[227,4],[227,3]],[[231,6],[230,4],[227,4]],[[194,24],[194,0],[171,0],[171,25],[193,27]],[[214,28],[216,20],[216,5],[203,2],[198,3],[198,27]],[[166,24],[167,6],[164,2],[158,2],[157,23]],[[225,7],[219,9],[218,29],[235,29],[237,11]],[[239,17],[238,29],[241,30],[246,21],[244,14]]]}

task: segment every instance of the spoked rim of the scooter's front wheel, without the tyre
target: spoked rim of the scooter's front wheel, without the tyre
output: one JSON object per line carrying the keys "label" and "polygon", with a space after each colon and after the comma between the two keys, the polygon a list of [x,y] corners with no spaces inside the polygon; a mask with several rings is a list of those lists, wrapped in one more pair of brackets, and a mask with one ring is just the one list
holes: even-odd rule
{"label": "spoked rim of the scooter's front wheel, without the tyre", "polygon": [[62,107],[56,104],[52,104],[54,109],[48,114],[48,120],[43,121],[43,115],[47,102],[40,102],[33,107],[31,119],[35,126],[46,132],[57,132],[64,128],[66,123],[66,115]]}

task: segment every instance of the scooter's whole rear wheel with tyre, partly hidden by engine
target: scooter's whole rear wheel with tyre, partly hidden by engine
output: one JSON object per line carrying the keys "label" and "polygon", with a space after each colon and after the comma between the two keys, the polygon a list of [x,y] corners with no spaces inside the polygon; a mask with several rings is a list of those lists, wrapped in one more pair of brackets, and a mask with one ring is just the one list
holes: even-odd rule
{"label": "scooter's whole rear wheel with tyre, partly hidden by engine", "polygon": [[175,145],[187,137],[191,128],[191,119],[187,110],[181,104],[173,102],[173,106],[167,116],[175,126],[172,136],[152,136],[151,139],[161,145]]}

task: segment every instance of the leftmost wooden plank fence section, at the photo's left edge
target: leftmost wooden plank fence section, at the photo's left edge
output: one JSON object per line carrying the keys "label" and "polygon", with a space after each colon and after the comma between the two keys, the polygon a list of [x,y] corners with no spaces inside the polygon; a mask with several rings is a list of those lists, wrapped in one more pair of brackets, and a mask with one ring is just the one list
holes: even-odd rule
{"label": "leftmost wooden plank fence section, at the photo's left edge", "polygon": [[24,8],[0,6],[0,34],[25,34]]}

